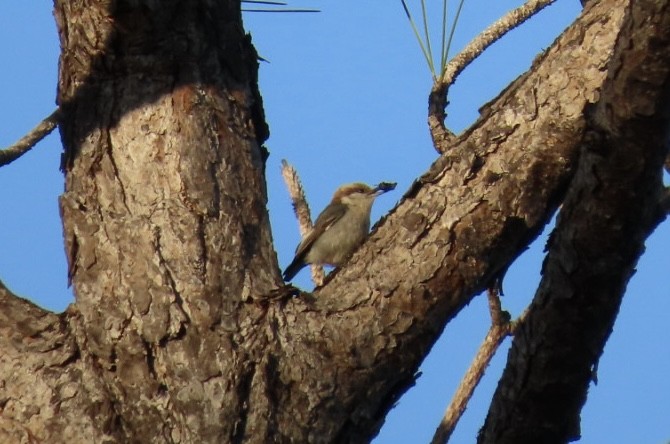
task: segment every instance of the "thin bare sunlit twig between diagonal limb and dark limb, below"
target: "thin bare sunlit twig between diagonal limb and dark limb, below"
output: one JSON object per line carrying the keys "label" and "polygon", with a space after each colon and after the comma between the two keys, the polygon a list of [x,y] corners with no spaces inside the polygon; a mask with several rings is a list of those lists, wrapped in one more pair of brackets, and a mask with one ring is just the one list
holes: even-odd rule
{"label": "thin bare sunlit twig between diagonal limb and dark limb, below", "polygon": [[470,368],[456,389],[456,393],[449,407],[447,407],[440,425],[435,430],[435,435],[433,435],[433,440],[431,441],[432,444],[444,444],[449,441],[449,437],[451,437],[456,424],[461,419],[463,412],[465,412],[470,398],[472,398],[475,387],[477,387],[479,381],[484,376],[484,371],[491,363],[491,359],[493,359],[498,347],[507,336],[513,334],[519,323],[523,322],[523,319],[526,317],[527,310],[517,320],[510,322],[509,314],[501,308],[498,291],[493,288],[489,289],[487,297],[489,312],[491,314],[491,327],[484,341],[479,346],[477,355],[472,360]]}

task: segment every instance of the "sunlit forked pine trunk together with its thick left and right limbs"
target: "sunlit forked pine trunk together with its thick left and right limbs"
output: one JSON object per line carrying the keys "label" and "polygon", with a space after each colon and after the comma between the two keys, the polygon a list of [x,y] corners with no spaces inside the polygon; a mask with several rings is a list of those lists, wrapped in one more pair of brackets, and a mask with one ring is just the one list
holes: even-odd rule
{"label": "sunlit forked pine trunk together with its thick left and right limbs", "polygon": [[236,3],[56,1],[76,303],[54,315],[0,288],[0,442],[368,441],[447,322],[562,201],[587,104],[639,80],[607,70],[627,2],[590,5],[347,267],[290,298]]}

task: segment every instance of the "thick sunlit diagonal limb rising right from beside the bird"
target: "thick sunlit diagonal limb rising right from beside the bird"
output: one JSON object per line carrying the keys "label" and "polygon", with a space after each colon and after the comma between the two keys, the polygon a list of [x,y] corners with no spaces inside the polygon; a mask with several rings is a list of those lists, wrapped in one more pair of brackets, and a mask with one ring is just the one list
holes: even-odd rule
{"label": "thick sunlit diagonal limb rising right from beside the bird", "polygon": [[[294,374],[299,359],[310,371],[290,379],[296,392],[322,400],[304,419],[310,433],[374,436],[442,326],[540,233],[572,179],[582,111],[605,79],[625,4],[588,8],[485,106],[313,302],[270,308],[268,317],[285,325],[279,342],[290,344],[290,357],[284,346],[277,351],[277,372]],[[305,402],[283,398],[282,407]],[[337,430],[333,415],[346,417]]]}

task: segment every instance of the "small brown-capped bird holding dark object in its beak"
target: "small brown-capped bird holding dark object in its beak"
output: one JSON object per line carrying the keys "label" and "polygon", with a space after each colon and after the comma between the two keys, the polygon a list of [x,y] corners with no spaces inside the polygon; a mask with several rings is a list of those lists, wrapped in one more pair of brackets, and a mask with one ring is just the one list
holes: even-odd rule
{"label": "small brown-capped bird holding dark object in its beak", "polygon": [[284,280],[289,282],[307,264],[344,264],[370,231],[375,198],[395,186],[394,182],[381,182],[375,187],[354,182],[339,187],[316,218],[312,231],[298,244],[293,261],[284,270]]}

